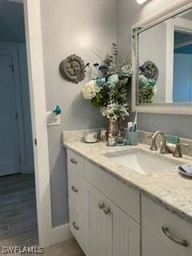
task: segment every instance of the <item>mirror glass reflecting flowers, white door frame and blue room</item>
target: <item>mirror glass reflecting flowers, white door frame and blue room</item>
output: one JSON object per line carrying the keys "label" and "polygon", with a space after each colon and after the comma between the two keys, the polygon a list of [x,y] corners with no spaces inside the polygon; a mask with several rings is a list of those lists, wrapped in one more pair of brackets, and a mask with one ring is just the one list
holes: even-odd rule
{"label": "mirror glass reflecting flowers, white door frame and blue room", "polygon": [[138,32],[138,104],[192,102],[192,10]]}

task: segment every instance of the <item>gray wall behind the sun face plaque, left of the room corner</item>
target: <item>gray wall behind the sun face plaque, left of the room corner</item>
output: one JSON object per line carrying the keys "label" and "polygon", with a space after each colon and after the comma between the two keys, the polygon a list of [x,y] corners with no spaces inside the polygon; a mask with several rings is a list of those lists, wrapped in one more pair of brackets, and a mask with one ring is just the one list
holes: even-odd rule
{"label": "gray wall behind the sun face plaque, left of the room corner", "polygon": [[48,128],[53,226],[68,222],[66,154],[62,130],[102,126],[102,116],[81,94],[82,85],[67,82],[58,72],[62,59],[78,54],[86,62],[100,62],[95,50],[106,54],[116,42],[115,0],[41,0],[46,109],[62,107],[62,125]]}

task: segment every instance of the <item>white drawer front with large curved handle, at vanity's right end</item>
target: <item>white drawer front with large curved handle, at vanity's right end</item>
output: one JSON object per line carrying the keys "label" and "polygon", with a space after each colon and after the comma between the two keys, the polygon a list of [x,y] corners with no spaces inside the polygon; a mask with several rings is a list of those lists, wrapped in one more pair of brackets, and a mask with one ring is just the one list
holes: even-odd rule
{"label": "white drawer front with large curved handle, at vanity's right end", "polygon": [[[192,255],[192,225],[143,195],[142,226],[170,247],[175,254]],[[185,241],[188,246],[185,246]]]}

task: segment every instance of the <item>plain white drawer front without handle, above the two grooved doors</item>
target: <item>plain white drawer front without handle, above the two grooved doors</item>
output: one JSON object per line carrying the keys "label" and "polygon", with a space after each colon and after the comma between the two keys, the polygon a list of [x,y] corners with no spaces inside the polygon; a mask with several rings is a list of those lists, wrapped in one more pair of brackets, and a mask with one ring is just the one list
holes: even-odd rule
{"label": "plain white drawer front without handle, above the two grooved doors", "polygon": [[90,184],[102,191],[126,214],[140,222],[140,194],[107,174],[98,166],[84,160],[85,178]]}

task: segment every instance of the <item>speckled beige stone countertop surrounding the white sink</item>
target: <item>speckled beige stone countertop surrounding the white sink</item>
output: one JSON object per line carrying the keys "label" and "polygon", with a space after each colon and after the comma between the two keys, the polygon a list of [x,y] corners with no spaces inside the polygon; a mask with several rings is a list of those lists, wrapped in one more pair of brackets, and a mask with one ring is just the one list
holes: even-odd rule
{"label": "speckled beige stone countertop surrounding the white sink", "polygon": [[170,212],[192,223],[192,178],[187,178],[178,173],[178,168],[157,171],[152,174],[139,174],[136,171],[122,166],[105,154],[118,154],[120,151],[130,149],[146,150],[150,154],[158,154],[159,157],[168,158],[170,161],[192,163],[190,156],[173,158],[172,154],[161,155],[158,151],[149,150],[149,146],[106,146],[104,142],[88,144],[81,141],[71,142],[66,140],[64,146],[75,153],[80,154],[86,160],[102,168],[102,170],[118,178],[127,186],[146,194],[154,202],[165,207]]}

